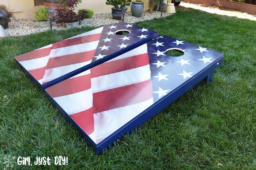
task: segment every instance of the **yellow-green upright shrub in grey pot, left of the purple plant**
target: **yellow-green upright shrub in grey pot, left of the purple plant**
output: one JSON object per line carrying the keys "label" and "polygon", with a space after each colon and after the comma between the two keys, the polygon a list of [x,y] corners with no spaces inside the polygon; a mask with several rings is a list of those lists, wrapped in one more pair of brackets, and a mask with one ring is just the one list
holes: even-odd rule
{"label": "yellow-green upright shrub in grey pot, left of the purple plant", "polygon": [[40,7],[39,11],[35,11],[34,18],[35,18],[35,21],[33,23],[34,23],[34,26],[37,28],[47,27],[50,25],[50,21],[48,20],[48,14],[46,12],[45,7]]}

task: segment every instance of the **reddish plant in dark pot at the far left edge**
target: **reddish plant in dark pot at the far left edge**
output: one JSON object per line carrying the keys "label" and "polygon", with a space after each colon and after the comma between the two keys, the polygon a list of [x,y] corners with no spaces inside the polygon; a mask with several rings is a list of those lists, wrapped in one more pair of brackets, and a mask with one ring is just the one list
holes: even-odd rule
{"label": "reddish plant in dark pot at the far left edge", "polygon": [[5,5],[0,5],[0,25],[2,25],[4,29],[9,28],[11,18],[14,18],[12,10]]}

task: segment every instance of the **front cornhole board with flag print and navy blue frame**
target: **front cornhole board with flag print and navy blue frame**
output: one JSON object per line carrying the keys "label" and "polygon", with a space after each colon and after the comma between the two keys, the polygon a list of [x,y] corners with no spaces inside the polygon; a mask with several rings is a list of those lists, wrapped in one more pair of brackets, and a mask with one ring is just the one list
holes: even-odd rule
{"label": "front cornhole board with flag print and navy blue frame", "polygon": [[[168,56],[172,49],[184,55]],[[222,53],[161,36],[44,91],[100,154],[201,80],[211,81],[222,60]]]}

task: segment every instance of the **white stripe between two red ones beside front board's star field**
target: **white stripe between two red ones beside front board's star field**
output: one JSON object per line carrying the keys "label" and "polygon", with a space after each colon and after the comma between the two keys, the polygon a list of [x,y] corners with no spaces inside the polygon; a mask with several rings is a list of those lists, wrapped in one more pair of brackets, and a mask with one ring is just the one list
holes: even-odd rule
{"label": "white stripe between two red ones beside front board's star field", "polygon": [[151,79],[150,66],[142,66],[116,72],[113,74],[103,75],[91,79],[91,87],[93,93],[113,89],[116,87],[122,87],[130,84],[144,82]]}

